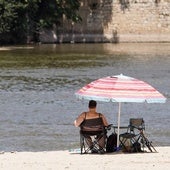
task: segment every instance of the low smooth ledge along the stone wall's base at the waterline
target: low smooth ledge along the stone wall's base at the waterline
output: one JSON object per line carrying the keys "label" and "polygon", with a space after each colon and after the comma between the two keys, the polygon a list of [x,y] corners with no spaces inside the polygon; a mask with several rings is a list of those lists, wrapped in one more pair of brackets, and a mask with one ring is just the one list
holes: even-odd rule
{"label": "low smooth ledge along the stone wall's base at the waterline", "polygon": [[[57,37],[57,35],[55,36]],[[64,34],[54,38],[48,31],[40,36],[41,43],[169,43],[168,33],[140,33],[140,34]]]}

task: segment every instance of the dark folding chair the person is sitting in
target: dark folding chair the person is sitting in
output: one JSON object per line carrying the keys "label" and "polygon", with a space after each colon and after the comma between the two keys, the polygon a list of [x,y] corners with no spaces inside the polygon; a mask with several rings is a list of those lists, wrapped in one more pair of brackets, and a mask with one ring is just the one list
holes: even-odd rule
{"label": "dark folding chair the person is sitting in", "polygon": [[[87,123],[88,122],[88,123]],[[105,153],[106,129],[100,118],[86,119],[86,125],[80,126],[80,148],[83,153]]]}

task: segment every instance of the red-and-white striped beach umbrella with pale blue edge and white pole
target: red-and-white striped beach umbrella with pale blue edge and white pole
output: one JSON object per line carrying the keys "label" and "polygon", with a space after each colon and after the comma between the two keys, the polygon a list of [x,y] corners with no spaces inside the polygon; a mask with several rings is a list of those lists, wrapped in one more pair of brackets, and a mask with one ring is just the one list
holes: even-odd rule
{"label": "red-and-white striped beach umbrella with pale blue edge and white pole", "polygon": [[[103,102],[118,102],[117,135],[120,129],[120,113],[122,102],[165,103],[166,98],[148,83],[125,76],[123,74],[108,76],[95,80],[75,93],[78,99]],[[119,137],[117,138],[117,148]]]}

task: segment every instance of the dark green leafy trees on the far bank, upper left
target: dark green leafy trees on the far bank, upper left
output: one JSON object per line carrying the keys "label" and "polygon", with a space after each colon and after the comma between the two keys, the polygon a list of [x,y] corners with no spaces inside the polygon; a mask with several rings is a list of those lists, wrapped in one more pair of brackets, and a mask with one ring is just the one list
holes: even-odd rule
{"label": "dark green leafy trees on the far bank, upper left", "polygon": [[38,42],[43,28],[62,24],[63,16],[73,22],[79,0],[0,0],[0,44]]}

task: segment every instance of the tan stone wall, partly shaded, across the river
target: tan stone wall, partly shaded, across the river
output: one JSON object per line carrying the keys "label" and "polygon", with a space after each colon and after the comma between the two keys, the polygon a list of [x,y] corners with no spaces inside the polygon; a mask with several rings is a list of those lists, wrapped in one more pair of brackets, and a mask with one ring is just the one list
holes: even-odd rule
{"label": "tan stone wall, partly shaded, across the river", "polygon": [[170,0],[81,0],[83,21],[44,30],[42,42],[170,42]]}

